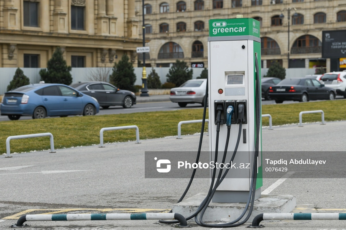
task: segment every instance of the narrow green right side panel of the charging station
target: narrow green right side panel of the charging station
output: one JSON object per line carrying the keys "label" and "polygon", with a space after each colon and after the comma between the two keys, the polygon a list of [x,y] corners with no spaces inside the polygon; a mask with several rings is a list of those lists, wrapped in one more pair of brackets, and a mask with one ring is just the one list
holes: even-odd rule
{"label": "narrow green right side panel of the charging station", "polygon": [[[254,41],[254,63],[256,62],[256,58],[255,58],[255,53],[257,53],[257,64],[258,64],[258,69],[259,69],[259,73],[258,73],[258,76],[260,76],[260,78],[258,80],[260,80],[260,86],[261,86],[261,43],[260,42],[256,42]],[[254,66],[254,80],[256,80],[256,68]],[[254,81],[254,95],[255,95],[255,101],[256,101],[256,81]],[[261,90],[261,87],[260,87],[260,90]],[[260,93],[260,97],[261,97],[261,93]],[[255,105],[256,106],[256,105]],[[256,108],[255,108],[255,111],[256,111]],[[262,114],[262,103],[260,104],[260,114]],[[262,117],[260,119],[260,133],[261,133],[261,140],[260,140],[260,143],[261,143],[261,158],[258,159],[258,161],[261,162],[261,166],[258,167],[258,173],[257,173],[257,181],[256,181],[256,189],[258,188],[261,188],[263,186],[263,164],[262,164]],[[256,125],[255,125],[255,133],[256,133]],[[255,137],[256,138],[256,137]]]}

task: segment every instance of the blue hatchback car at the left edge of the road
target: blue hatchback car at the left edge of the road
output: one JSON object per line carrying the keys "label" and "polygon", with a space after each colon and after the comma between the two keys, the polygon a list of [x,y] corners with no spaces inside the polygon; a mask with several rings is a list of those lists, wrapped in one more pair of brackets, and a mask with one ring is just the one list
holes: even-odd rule
{"label": "blue hatchback car at the left edge of the road", "polygon": [[47,116],[95,115],[100,110],[97,99],[64,84],[29,84],[6,92],[0,104],[1,115],[10,120],[21,116],[33,119]]}

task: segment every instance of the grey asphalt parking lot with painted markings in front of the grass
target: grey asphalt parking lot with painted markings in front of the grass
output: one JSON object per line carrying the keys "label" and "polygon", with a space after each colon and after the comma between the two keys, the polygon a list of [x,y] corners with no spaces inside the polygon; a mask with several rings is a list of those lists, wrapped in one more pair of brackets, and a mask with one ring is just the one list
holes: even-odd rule
{"label": "grey asphalt parking lot with painted markings in front of the grass", "polygon": [[[346,121],[304,124],[304,127],[263,128],[263,151],[345,151]],[[0,229],[8,229],[22,214],[164,212],[183,193],[188,179],[146,179],[145,151],[196,151],[199,135],[166,137],[142,143],[107,144],[0,156]],[[202,150],[208,150],[204,135]],[[158,152],[159,154],[159,152]],[[343,159],[340,159],[343,160]],[[280,181],[279,181],[280,182]],[[277,184],[263,179],[262,190]],[[297,197],[293,212],[343,212],[346,179],[286,179],[270,194]],[[195,179],[187,197],[206,192],[209,179]],[[120,230],[174,229],[156,220],[28,222],[27,229]],[[206,229],[190,223],[194,229]],[[266,229],[342,230],[345,221],[263,221]],[[239,227],[240,229],[244,228]]]}

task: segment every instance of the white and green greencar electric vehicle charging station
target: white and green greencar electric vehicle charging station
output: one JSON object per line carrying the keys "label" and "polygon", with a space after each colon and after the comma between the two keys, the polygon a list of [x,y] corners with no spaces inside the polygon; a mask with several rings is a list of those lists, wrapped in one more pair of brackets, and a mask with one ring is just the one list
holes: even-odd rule
{"label": "white and green greencar electric vehicle charging station", "polygon": [[[240,16],[242,17],[242,16]],[[227,112],[233,107],[231,117],[230,137],[226,162],[236,148],[238,133],[240,143],[237,154],[233,160],[236,167],[243,163],[251,166],[248,169],[232,168],[217,187],[212,202],[247,202],[251,191],[253,159],[256,144],[256,80],[260,81],[260,68],[256,72],[255,62],[261,64],[261,39],[260,22],[252,18],[212,19],[209,20],[208,37],[208,87],[209,87],[209,151],[210,159],[215,161],[217,108],[222,107],[218,149],[223,150],[226,143]],[[259,94],[261,95],[261,93]],[[260,98],[261,100],[261,98]],[[240,120],[239,105],[244,105],[242,127],[239,130]],[[261,103],[257,108],[261,114]],[[260,123],[261,123],[260,119]],[[212,122],[215,121],[215,122]],[[261,129],[261,124],[259,125]],[[255,199],[261,196],[262,187],[262,156],[261,156],[261,131],[259,132],[259,151],[257,162],[257,180]],[[217,162],[221,162],[218,156]],[[257,169],[256,169],[257,170]]]}

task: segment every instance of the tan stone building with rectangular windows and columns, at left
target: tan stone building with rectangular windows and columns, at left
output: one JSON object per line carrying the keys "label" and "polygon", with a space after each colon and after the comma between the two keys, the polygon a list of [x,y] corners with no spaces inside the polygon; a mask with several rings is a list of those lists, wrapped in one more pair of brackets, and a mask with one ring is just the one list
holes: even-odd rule
{"label": "tan stone building with rectangular windows and columns, at left", "polygon": [[45,68],[56,47],[72,67],[136,62],[138,26],[135,0],[0,0],[0,67]]}

